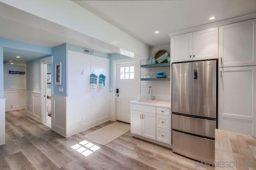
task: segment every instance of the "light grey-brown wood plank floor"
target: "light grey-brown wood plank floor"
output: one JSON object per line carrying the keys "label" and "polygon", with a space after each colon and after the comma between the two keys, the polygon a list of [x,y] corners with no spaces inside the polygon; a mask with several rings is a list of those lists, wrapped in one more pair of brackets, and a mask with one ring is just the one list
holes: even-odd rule
{"label": "light grey-brown wood plank floor", "polygon": [[[64,138],[47,126],[25,115],[25,110],[6,112],[6,144],[0,146],[0,170],[69,169],[69,170],[168,170],[213,169],[174,154],[172,150],[131,137],[118,137],[84,156],[71,147],[86,140],[83,135],[104,127],[112,121]],[[88,141],[88,140],[87,140]]]}

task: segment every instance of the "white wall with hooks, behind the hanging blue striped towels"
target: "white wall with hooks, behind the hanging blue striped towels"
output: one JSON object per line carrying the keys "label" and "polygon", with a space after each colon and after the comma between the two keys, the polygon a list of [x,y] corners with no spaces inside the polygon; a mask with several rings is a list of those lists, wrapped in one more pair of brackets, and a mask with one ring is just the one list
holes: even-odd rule
{"label": "white wall with hooks, behind the hanging blue striped towels", "polygon": [[[110,119],[109,64],[109,59],[68,50],[67,136]],[[102,71],[106,76],[103,89],[97,82],[97,89],[89,90],[93,70],[97,76]]]}

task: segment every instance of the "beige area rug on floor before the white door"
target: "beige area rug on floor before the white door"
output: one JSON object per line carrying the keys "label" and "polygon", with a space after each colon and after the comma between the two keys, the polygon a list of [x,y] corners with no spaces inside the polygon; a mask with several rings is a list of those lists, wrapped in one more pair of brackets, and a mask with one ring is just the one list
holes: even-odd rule
{"label": "beige area rug on floor before the white door", "polygon": [[128,131],[130,131],[130,125],[114,122],[88,133],[87,135],[84,135],[84,137],[100,145],[107,145]]}

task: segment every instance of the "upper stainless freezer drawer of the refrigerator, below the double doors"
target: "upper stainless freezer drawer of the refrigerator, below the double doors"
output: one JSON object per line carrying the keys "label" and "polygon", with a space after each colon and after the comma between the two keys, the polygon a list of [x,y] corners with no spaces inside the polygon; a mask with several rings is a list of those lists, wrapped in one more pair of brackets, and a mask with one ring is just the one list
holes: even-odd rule
{"label": "upper stainless freezer drawer of the refrigerator, below the double doors", "polygon": [[215,138],[216,121],[172,114],[172,129]]}

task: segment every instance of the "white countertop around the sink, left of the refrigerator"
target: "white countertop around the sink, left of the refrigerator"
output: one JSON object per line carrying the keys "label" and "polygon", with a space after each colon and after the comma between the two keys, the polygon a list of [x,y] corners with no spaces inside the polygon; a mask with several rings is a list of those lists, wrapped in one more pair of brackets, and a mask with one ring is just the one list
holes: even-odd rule
{"label": "white countertop around the sink, left of the refrigerator", "polygon": [[146,106],[155,106],[155,107],[166,107],[166,108],[171,107],[171,102],[160,101],[160,100],[140,99],[140,100],[133,100],[130,103],[131,104],[146,105]]}

